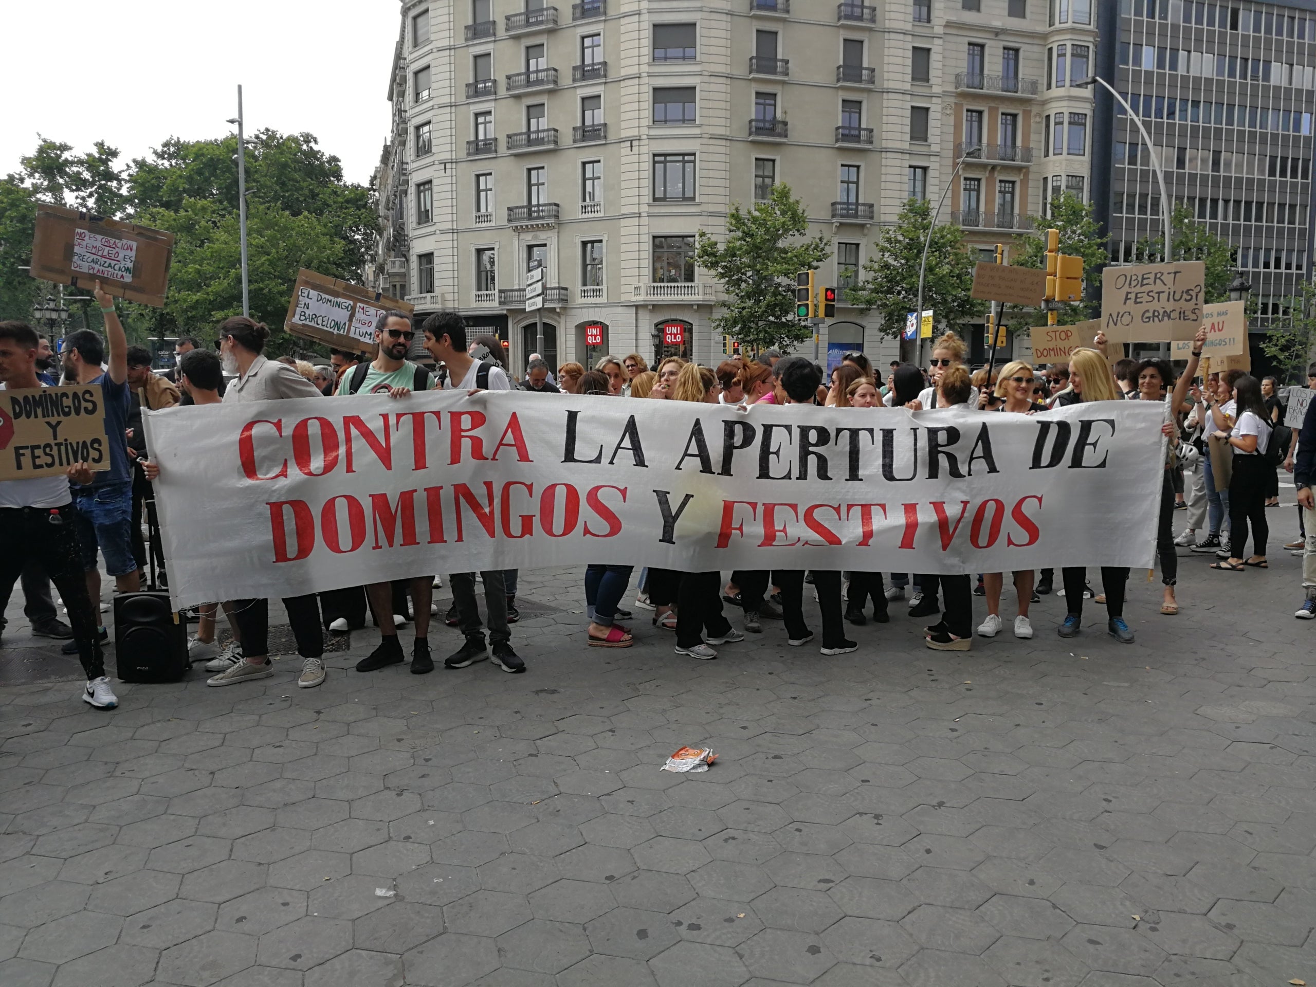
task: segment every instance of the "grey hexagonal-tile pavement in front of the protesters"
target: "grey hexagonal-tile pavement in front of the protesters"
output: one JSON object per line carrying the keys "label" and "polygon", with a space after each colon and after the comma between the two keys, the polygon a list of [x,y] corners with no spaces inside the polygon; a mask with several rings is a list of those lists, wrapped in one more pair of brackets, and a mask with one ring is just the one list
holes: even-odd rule
{"label": "grey hexagonal-tile pavement in front of the protesters", "polygon": [[[286,659],[111,713],[18,599],[0,984],[1316,983],[1316,624],[1269,517],[1270,571],[1180,553],[1178,617],[1136,572],[1132,646],[1050,596],[961,654],[903,603],[837,658],[769,621],[692,661],[645,611],[588,649],[582,572],[541,570],[525,675],[362,675],[365,630],[317,690]],[[661,771],[687,744],[716,765]]]}

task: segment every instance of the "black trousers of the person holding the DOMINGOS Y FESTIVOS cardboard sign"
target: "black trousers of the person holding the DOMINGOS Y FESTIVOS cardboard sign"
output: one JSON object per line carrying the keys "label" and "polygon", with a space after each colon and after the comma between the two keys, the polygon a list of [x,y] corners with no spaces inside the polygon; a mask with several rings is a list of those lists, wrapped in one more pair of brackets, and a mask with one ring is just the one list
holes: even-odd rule
{"label": "black trousers of the person holding the DOMINGOS Y FESTIVOS cardboard sign", "polygon": [[5,599],[30,562],[41,565],[64,597],[74,641],[78,642],[78,658],[87,678],[100,678],[105,674],[105,657],[96,633],[100,612],[87,595],[72,504],[59,508],[0,508],[0,592]]}

